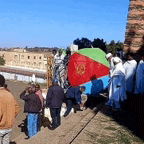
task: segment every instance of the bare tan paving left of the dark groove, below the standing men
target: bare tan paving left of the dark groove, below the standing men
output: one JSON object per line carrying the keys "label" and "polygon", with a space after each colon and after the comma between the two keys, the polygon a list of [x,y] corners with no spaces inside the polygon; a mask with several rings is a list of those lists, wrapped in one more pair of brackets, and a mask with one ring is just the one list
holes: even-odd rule
{"label": "bare tan paving left of the dark groove, below the standing men", "polygon": [[[51,131],[47,127],[43,127],[42,130],[32,139],[25,140],[24,135],[21,135],[20,137],[14,139],[18,144],[57,144],[57,143],[63,143],[62,140],[65,139],[67,135],[70,134],[70,137],[68,139],[68,142],[73,139],[75,135],[77,135],[77,132],[81,130],[83,127],[83,124],[81,124],[81,121],[87,122],[87,120],[91,119],[90,110],[85,110],[83,112],[77,112],[76,114],[72,113],[66,118],[62,118],[62,124],[60,127],[58,127],[56,130]],[[73,130],[74,129],[74,130]],[[73,131],[73,134],[72,134]],[[67,140],[67,139],[66,139]],[[64,142],[66,144],[66,142]]]}

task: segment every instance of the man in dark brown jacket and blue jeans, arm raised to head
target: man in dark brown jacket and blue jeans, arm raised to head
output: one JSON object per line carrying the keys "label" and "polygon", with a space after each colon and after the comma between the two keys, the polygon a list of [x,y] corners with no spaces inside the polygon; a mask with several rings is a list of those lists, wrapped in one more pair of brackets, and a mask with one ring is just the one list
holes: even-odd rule
{"label": "man in dark brown jacket and blue jeans, arm raised to head", "polygon": [[38,132],[39,112],[42,108],[41,100],[34,92],[34,87],[28,87],[20,94],[20,98],[25,101],[24,112],[28,113],[28,138]]}

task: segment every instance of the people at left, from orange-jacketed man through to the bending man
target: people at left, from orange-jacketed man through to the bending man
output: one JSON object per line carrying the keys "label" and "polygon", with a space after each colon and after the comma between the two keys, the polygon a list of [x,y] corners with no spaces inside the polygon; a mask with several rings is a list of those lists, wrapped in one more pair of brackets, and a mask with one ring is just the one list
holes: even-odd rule
{"label": "people at left, from orange-jacketed man through to the bending man", "polygon": [[[42,95],[40,86],[32,84],[26,87],[20,94],[20,98],[24,100],[24,113],[27,113],[27,129],[28,137],[35,136],[40,131],[41,123],[44,118],[44,109],[49,108],[52,118],[52,123],[49,127],[50,130],[56,129],[61,124],[61,107],[66,99],[67,110],[64,114],[66,117],[72,107],[74,111],[81,110],[80,106],[83,105],[81,94],[85,91],[84,86],[71,87],[68,89],[66,95],[64,90],[58,84],[58,80],[53,80],[53,85],[48,89],[46,99]],[[1,143],[8,144],[14,124],[14,118],[18,115],[20,107],[12,96],[10,90],[5,84],[5,78],[0,75],[0,141]]]}

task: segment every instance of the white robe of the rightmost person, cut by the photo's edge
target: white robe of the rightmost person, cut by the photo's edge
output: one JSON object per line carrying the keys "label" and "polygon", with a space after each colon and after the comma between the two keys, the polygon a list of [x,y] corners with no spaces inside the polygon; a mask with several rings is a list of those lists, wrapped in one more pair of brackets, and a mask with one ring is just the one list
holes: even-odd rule
{"label": "white robe of the rightmost person, cut by the photo's edge", "polygon": [[141,60],[136,70],[135,94],[144,94],[144,61]]}

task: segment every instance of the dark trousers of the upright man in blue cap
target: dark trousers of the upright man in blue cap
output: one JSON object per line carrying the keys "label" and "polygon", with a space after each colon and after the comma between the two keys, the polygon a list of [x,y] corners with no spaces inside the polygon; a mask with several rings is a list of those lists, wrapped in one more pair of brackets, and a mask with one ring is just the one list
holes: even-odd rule
{"label": "dark trousers of the upright man in blue cap", "polygon": [[61,124],[60,111],[61,108],[50,108],[52,128],[56,128]]}

